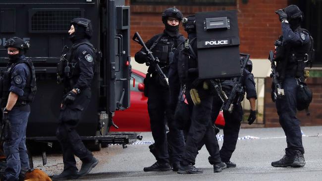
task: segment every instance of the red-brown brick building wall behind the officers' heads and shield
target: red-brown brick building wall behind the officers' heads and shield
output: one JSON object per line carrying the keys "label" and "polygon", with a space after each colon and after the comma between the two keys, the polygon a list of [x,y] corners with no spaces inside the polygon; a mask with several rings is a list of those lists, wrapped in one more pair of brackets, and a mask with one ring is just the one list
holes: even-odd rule
{"label": "red-brown brick building wall behind the officers' heads and shield", "polygon": [[[126,0],[130,4],[130,0]],[[287,0],[248,0],[242,3],[237,0],[234,6],[175,6],[184,16],[201,11],[238,10],[238,24],[240,36],[240,52],[250,53],[251,58],[267,58],[268,51],[273,48],[273,42],[281,33],[276,9],[287,6]],[[161,14],[164,9],[172,7],[166,5],[131,5],[131,36],[137,31],[144,41],[155,34],[161,33],[164,25]],[[186,37],[183,28],[180,32]],[[131,55],[141,48],[131,41]]]}

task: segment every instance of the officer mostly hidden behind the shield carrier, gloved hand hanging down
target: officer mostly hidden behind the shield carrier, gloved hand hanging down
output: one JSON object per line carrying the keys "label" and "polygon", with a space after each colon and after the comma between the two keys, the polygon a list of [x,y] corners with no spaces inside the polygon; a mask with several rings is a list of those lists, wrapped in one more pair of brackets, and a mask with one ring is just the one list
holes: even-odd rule
{"label": "officer mostly hidden behind the shield carrier, gloved hand hanging down", "polygon": [[[243,59],[241,59],[243,60]],[[246,61],[246,60],[243,60]],[[241,61],[241,64],[243,64]],[[253,69],[253,64],[251,60],[248,60],[246,67],[243,71],[243,76],[240,78],[234,78],[232,80],[226,80],[221,83],[222,90],[225,91],[227,95],[231,93],[233,86],[236,84],[237,79],[241,80],[241,86],[243,92],[238,92],[235,100],[233,101],[232,112],[224,110],[223,117],[225,119],[225,126],[223,128],[223,143],[219,151],[221,161],[226,163],[227,168],[236,167],[236,164],[230,161],[231,155],[236,148],[236,143],[238,139],[240,122],[243,119],[243,108],[241,106],[241,101],[244,98],[246,91],[246,98],[249,100],[251,105],[251,112],[248,118],[248,124],[251,125],[256,120],[256,99],[257,93],[255,88],[254,76],[251,73]],[[214,111],[215,112],[215,111]],[[215,120],[215,117],[213,117]]]}

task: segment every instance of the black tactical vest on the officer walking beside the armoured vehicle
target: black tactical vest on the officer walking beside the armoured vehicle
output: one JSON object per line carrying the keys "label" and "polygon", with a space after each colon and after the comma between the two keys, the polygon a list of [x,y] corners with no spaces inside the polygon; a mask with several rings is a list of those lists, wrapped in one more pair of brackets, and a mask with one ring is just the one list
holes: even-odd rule
{"label": "black tactical vest on the officer walking beside the armoured vehicle", "polygon": [[[79,78],[80,68],[78,59],[74,57],[74,51],[80,45],[88,45],[90,46],[95,54],[94,61],[94,73],[97,73],[100,70],[100,61],[102,58],[102,52],[95,49],[94,46],[89,42],[81,42],[79,44],[74,44],[72,48],[68,48],[65,46],[62,50],[62,55],[60,57],[60,61],[57,64],[57,83],[64,83],[66,87],[72,87],[72,84],[75,84],[77,79]],[[67,80],[67,81],[66,81]]]}

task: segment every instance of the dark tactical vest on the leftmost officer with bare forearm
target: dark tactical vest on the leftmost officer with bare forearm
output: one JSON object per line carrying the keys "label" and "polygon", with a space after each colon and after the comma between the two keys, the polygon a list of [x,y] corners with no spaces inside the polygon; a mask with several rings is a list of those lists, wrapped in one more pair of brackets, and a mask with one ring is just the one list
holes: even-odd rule
{"label": "dark tactical vest on the leftmost officer with bare forearm", "polygon": [[25,63],[30,70],[31,76],[27,77],[26,86],[23,89],[23,95],[18,97],[18,100],[15,106],[23,106],[31,103],[36,95],[37,86],[36,86],[36,73],[35,67],[31,60],[29,59],[22,59],[18,62],[11,64],[7,67],[7,71],[0,73],[0,95],[1,95],[1,107],[5,107],[9,97],[9,89],[11,87],[11,75],[12,70],[16,65],[19,63]]}

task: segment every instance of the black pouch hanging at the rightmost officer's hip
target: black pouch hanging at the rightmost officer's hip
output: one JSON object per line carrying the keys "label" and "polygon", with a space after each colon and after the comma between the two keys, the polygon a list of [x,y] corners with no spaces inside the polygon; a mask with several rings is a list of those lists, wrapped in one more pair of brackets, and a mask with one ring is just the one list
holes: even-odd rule
{"label": "black pouch hanging at the rightmost officer's hip", "polygon": [[[299,111],[308,109],[310,103],[312,102],[312,91],[304,82],[298,82],[296,101],[297,110]],[[307,111],[307,114],[310,113]]]}

